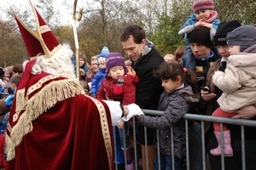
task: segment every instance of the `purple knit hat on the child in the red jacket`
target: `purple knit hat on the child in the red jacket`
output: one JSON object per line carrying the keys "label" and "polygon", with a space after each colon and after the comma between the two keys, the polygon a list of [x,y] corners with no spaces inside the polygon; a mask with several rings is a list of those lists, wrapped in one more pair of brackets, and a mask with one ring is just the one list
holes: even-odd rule
{"label": "purple knit hat on the child in the red jacket", "polygon": [[106,57],[106,70],[107,72],[112,69],[114,66],[122,65],[125,69],[125,73],[128,72],[126,66],[125,66],[125,59],[122,56],[122,54],[119,54],[118,52],[110,53]]}

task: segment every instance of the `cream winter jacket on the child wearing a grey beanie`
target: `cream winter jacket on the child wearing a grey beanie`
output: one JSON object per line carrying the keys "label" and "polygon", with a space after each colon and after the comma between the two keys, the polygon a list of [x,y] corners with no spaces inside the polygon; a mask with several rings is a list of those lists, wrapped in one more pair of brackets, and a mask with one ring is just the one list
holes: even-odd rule
{"label": "cream winter jacket on the child wearing a grey beanie", "polygon": [[234,112],[256,104],[256,54],[236,54],[228,59],[225,72],[216,71],[212,82],[224,93],[218,98],[223,111]]}

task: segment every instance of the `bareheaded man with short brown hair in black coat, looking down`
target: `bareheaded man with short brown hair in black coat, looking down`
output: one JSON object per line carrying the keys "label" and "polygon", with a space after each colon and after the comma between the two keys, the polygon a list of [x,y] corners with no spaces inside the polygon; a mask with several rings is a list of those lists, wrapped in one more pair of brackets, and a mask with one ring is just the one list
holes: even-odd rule
{"label": "bareheaded man with short brown hair in black coat, looking down", "polygon": [[[127,26],[120,37],[120,41],[140,79],[136,88],[136,104],[142,109],[157,110],[163,88],[160,78],[153,76],[153,70],[164,62],[163,57],[154,48],[153,42],[146,40],[145,31],[140,26]],[[146,169],[144,127],[138,126],[137,134],[137,142],[143,146],[143,169]],[[155,152],[154,130],[152,128],[147,128],[147,142],[148,169],[150,170],[154,169]]]}

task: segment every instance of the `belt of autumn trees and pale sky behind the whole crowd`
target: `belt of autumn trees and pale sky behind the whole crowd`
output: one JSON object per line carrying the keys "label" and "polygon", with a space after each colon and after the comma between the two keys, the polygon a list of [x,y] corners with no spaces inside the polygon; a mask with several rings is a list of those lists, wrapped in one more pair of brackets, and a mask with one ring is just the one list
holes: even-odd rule
{"label": "belt of autumn trees and pale sky behind the whole crowd", "polygon": [[[36,8],[61,43],[69,43],[74,49],[72,26],[61,26],[60,8],[56,1],[34,0]],[[177,31],[192,11],[193,1],[187,0],[91,0],[83,1],[84,13],[79,22],[79,49],[87,56],[99,54],[103,46],[110,51],[123,52],[119,36],[125,26],[138,24],[143,27],[149,40],[163,55],[172,53],[183,43]],[[60,5],[72,17],[73,3],[62,0]],[[241,24],[255,24],[256,3],[254,0],[215,0],[214,10],[219,20],[239,20]],[[35,20],[28,1],[16,3],[13,8],[27,26],[35,30]],[[27,59],[26,48],[20,37],[13,14],[8,5],[1,5],[0,11],[0,66],[5,63],[16,64]]]}

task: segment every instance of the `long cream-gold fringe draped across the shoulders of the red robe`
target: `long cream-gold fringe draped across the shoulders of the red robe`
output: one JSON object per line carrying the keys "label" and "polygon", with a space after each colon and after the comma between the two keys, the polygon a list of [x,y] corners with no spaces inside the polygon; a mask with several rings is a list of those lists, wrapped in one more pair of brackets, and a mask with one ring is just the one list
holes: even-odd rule
{"label": "long cream-gold fringe draped across the shoulders of the red robe", "polygon": [[[44,86],[44,90],[40,90],[30,99],[27,99],[27,95],[26,97],[24,96],[25,90],[21,89],[20,96],[23,96],[23,100],[25,99],[22,106],[22,108],[24,108],[22,111],[24,112],[20,114],[20,111],[15,111],[13,122],[18,121],[14,127],[10,128],[10,136],[6,135],[8,136],[6,138],[7,160],[9,161],[15,158],[15,147],[20,144],[27,133],[32,132],[32,122],[37,119],[38,116],[53,107],[58,101],[63,101],[75,95],[82,94],[82,91],[83,87],[80,85],[79,81],[68,79],[49,82],[49,84]],[[19,93],[17,92],[17,94]],[[19,99],[21,98],[17,96],[17,105],[20,105]]]}

